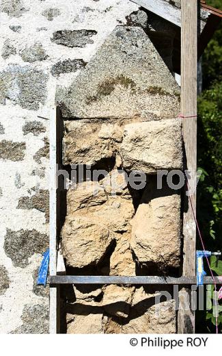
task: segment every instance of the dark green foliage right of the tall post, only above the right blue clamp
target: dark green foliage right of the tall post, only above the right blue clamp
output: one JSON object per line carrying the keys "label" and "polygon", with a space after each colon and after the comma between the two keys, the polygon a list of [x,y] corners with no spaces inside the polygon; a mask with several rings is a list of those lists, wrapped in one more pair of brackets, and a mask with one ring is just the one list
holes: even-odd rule
{"label": "dark green foliage right of the tall post, only above the right blue clamp", "polygon": [[202,176],[197,187],[198,218],[204,239],[221,249],[222,230],[222,82],[214,82],[198,100],[197,160]]}

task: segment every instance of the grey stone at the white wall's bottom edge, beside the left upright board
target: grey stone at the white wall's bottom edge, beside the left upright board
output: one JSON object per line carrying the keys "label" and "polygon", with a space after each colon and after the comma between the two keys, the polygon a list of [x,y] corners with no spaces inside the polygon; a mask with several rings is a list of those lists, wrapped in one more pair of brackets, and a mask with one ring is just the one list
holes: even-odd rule
{"label": "grey stone at the white wall's bottom edge, beside the left upright board", "polygon": [[48,305],[25,305],[21,316],[23,325],[12,333],[20,334],[42,334],[49,333],[49,312]]}

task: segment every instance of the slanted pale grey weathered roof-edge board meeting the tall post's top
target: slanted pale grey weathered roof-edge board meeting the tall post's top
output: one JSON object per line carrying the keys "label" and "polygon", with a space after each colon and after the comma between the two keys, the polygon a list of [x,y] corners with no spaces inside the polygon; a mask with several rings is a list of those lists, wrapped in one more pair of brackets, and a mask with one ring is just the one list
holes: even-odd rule
{"label": "slanted pale grey weathered roof-edge board meeting the tall post's top", "polygon": [[[143,6],[146,10],[153,12],[154,14],[165,18],[165,20],[174,23],[174,25],[181,27],[181,10],[171,3],[167,3],[165,0],[131,0],[140,6]],[[205,11],[204,17],[207,18],[210,12]],[[201,30],[204,29],[206,22],[201,21]]]}

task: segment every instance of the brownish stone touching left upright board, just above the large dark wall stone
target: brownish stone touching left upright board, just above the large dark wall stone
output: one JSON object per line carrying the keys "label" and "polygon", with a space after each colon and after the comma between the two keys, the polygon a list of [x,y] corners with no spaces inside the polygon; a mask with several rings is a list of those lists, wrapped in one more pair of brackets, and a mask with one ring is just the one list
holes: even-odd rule
{"label": "brownish stone touching left upright board, just above the large dark wall stone", "polygon": [[33,196],[23,196],[18,200],[18,209],[37,209],[44,212],[46,223],[49,223],[49,192],[40,189]]}

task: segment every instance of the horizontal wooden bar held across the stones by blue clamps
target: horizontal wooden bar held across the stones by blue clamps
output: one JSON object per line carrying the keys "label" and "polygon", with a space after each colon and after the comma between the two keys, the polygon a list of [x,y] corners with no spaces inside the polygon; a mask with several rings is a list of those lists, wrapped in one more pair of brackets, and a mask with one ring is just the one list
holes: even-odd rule
{"label": "horizontal wooden bar held across the stones by blue clamps", "polygon": [[[56,284],[170,284],[170,285],[195,285],[196,277],[158,277],[158,276],[51,276],[51,285]],[[216,277],[216,283],[221,284]],[[214,284],[211,277],[204,277],[204,284]]]}

